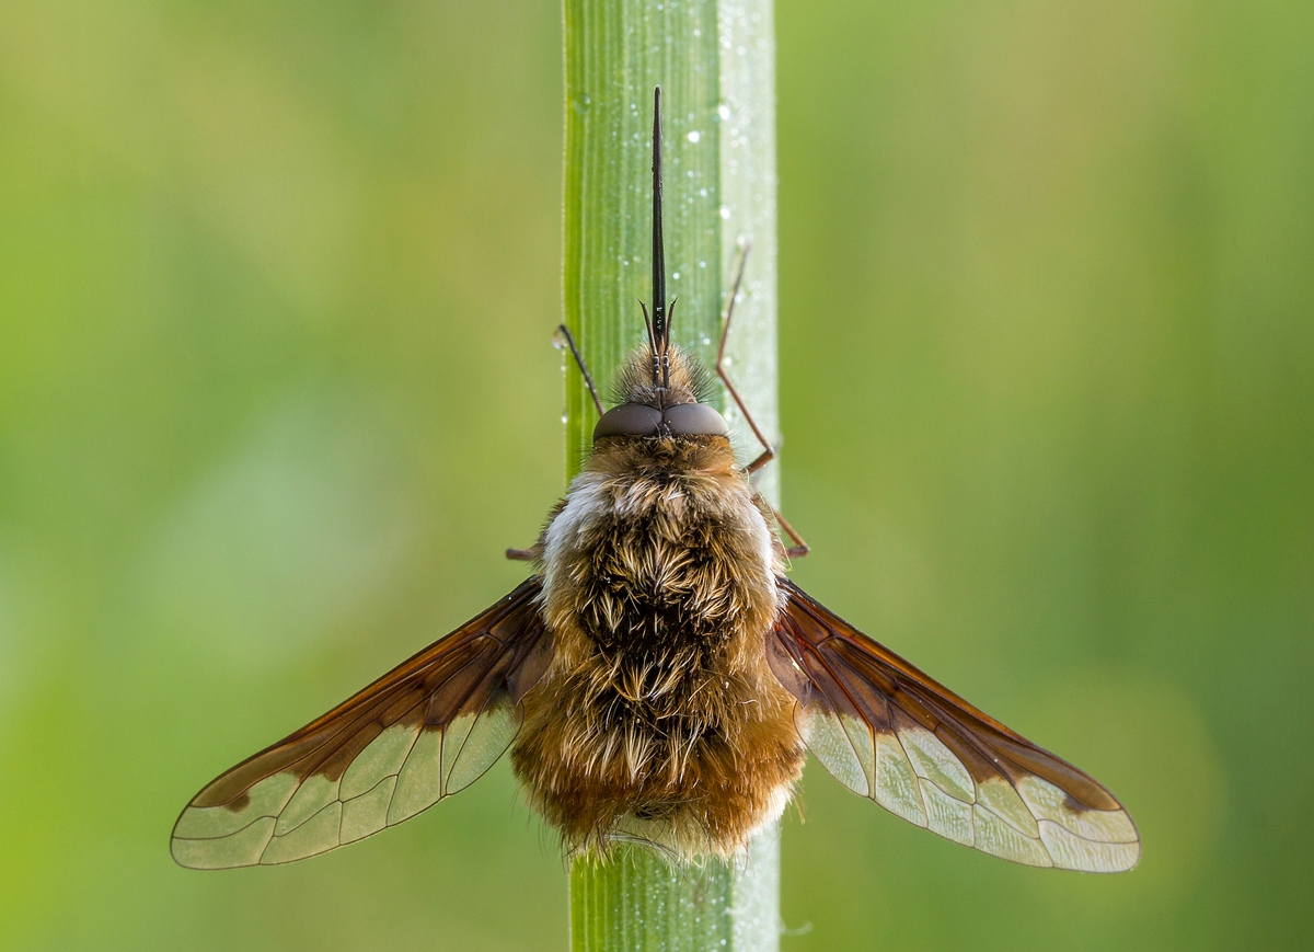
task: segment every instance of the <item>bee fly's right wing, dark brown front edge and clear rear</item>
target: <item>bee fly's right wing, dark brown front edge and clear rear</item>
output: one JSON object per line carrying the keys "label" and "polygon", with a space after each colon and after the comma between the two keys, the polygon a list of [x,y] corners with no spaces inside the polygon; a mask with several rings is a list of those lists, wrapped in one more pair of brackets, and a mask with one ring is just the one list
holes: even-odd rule
{"label": "bee fly's right wing, dark brown front edge and clear rear", "polygon": [[792,583],[769,642],[808,748],[911,823],[1033,867],[1120,872],[1135,824],[1100,784],[876,644]]}

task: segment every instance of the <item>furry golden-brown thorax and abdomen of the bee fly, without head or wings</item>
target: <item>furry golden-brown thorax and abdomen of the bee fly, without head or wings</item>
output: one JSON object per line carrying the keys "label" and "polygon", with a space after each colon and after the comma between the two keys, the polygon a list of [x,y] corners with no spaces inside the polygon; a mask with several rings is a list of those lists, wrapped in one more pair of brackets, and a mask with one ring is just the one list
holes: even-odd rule
{"label": "furry golden-brown thorax and abdomen of the bee fly, without head or wings", "polygon": [[778,567],[746,481],[585,473],[544,550],[555,661],[512,751],[531,802],[576,849],[736,851],[803,765],[765,659]]}

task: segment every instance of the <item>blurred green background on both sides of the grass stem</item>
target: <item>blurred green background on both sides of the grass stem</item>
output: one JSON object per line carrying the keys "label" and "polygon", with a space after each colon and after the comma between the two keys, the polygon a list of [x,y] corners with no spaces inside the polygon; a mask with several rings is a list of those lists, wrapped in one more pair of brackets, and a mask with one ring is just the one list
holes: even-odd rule
{"label": "blurred green background on both sides of the grass stem", "polygon": [[[1307,947],[1314,7],[782,0],[778,46],[796,577],[1146,844],[1021,869],[813,764],[783,948]],[[561,110],[553,3],[0,3],[0,945],[565,948],[505,765],[293,867],[167,849],[522,576]]]}

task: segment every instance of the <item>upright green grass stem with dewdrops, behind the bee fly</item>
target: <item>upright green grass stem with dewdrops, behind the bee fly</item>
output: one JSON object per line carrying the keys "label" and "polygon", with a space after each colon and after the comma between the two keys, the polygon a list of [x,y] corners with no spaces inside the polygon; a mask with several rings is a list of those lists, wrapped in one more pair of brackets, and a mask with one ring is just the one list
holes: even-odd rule
{"label": "upright green grass stem with dewdrops, behind the bee fly", "polygon": [[[604,402],[650,300],[652,89],[665,104],[668,295],[673,339],[711,366],[724,296],[750,247],[728,348],[758,425],[778,435],[775,345],[775,93],[769,0],[565,0],[566,323]],[[597,413],[566,375],[566,465],[578,472]],[[742,458],[758,451],[720,394]],[[759,487],[778,502],[775,467]],[[625,849],[570,873],[572,944],[587,952],[779,945],[779,831],[738,863],[674,870]]]}

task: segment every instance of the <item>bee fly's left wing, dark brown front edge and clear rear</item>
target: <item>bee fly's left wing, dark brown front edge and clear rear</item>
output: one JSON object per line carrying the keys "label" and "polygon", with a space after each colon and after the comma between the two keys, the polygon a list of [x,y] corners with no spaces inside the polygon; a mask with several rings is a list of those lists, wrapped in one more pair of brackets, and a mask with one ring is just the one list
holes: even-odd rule
{"label": "bee fly's left wing, dark brown front edge and clear rear", "polygon": [[173,826],[194,869],[290,863],[401,823],[477,780],[515,739],[551,660],[539,580],[221,774]]}

